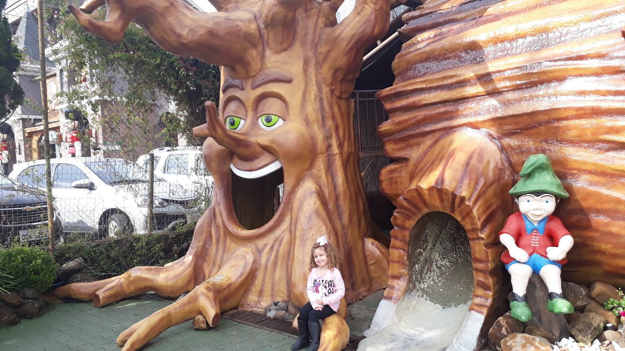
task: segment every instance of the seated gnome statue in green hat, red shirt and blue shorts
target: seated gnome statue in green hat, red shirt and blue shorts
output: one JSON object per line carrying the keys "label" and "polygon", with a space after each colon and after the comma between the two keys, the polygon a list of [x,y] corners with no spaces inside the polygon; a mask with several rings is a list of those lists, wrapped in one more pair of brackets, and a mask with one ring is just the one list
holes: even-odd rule
{"label": "seated gnome statue in green hat, red shirt and blue shorts", "polygon": [[499,232],[499,240],[507,248],[501,260],[512,280],[511,315],[521,322],[532,319],[526,295],[532,273],[540,275],[547,285],[547,310],[572,313],[573,306],[562,295],[560,273],[573,246],[573,237],[561,220],[551,215],[557,202],[569,194],[543,154],[529,156],[520,175],[521,180],[509,192],[520,212],[508,217]]}

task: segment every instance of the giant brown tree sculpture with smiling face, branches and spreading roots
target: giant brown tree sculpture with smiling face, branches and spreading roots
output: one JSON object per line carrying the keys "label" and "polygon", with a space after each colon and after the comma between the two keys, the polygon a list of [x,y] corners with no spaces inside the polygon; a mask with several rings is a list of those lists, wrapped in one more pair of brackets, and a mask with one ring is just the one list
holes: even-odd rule
{"label": "giant brown tree sculpture with smiling face, branches and spreading roots", "polygon": [[[104,2],[91,0],[82,9],[92,12]],[[199,314],[215,325],[220,311],[237,306],[304,304],[309,248],[321,234],[341,254],[347,301],[388,280],[388,251],[370,239],[349,95],[364,49],[386,31],[389,2],[361,0],[341,24],[341,0],[212,4],[222,12],[195,11],[179,0],[107,0],[106,21],[70,7],[81,26],[109,42],[120,41],[134,21],[164,49],[223,66],[221,113],[207,102],[207,123],[194,130],[208,137],[202,153],[216,186],[189,252],[166,267],[136,267],[56,290],[93,299],[96,307],[148,290],[172,297],[192,290],[123,332],[123,350],[139,349]],[[232,209],[232,172],[257,178],[280,167],[279,209],[262,227],[244,229]],[[334,327],[324,327],[321,349],[344,346],[345,322],[336,317],[327,324]],[[332,332],[339,337],[329,337]]]}

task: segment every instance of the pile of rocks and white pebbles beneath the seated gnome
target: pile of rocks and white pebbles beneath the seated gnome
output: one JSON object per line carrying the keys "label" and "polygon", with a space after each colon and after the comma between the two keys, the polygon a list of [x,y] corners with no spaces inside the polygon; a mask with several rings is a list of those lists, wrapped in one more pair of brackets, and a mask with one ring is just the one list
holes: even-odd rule
{"label": "pile of rocks and white pebbles beneath the seated gnome", "polygon": [[594,282],[590,287],[562,283],[562,292],[575,312],[556,315],[547,311],[547,289],[532,275],[527,287],[527,305],[533,318],[526,323],[509,312],[495,321],[488,333],[493,351],[625,351],[623,321],[604,309],[608,299],[620,300],[616,287]]}

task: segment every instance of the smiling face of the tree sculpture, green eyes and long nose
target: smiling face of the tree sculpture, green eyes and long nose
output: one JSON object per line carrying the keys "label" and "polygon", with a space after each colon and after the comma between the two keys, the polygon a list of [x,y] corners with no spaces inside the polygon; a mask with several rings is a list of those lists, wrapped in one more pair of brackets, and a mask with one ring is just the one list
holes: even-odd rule
{"label": "smiling face of the tree sculpture, green eyes and long nose", "polygon": [[301,97],[284,82],[286,74],[270,79],[262,84],[247,79],[244,89],[229,87],[222,93],[219,123],[225,133],[216,139],[234,152],[231,169],[239,177],[259,178],[281,167],[300,173],[310,165],[311,146],[299,116]]}

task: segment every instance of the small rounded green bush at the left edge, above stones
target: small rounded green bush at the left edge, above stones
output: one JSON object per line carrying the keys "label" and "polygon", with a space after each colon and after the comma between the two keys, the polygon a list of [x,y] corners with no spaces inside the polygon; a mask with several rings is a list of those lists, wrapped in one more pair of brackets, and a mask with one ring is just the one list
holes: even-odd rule
{"label": "small rounded green bush at the left edge, above stones", "polygon": [[14,289],[29,287],[44,292],[56,279],[58,265],[38,247],[16,246],[0,251],[0,267],[11,277],[7,280]]}

